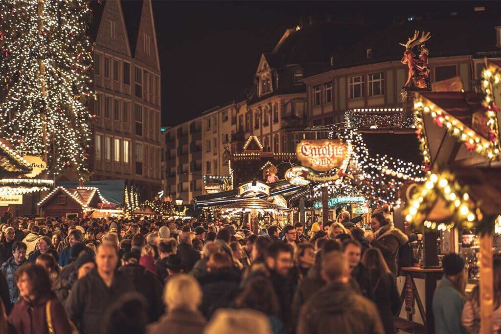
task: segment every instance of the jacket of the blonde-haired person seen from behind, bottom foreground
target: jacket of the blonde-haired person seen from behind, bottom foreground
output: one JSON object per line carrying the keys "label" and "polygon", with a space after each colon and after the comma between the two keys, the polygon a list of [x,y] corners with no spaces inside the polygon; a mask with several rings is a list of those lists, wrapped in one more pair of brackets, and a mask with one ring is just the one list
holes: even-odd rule
{"label": "jacket of the blonde-haired person seen from behind, bottom foreground", "polygon": [[148,326],[148,334],[202,334],[207,320],[202,313],[173,309]]}

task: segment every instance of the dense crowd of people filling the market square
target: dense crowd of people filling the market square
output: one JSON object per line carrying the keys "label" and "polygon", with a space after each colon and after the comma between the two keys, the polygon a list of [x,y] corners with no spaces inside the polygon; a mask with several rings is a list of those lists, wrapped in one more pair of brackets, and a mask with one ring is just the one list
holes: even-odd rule
{"label": "dense crowd of people filling the market square", "polygon": [[384,212],[371,226],[7,213],[0,332],[395,333],[408,238]]}

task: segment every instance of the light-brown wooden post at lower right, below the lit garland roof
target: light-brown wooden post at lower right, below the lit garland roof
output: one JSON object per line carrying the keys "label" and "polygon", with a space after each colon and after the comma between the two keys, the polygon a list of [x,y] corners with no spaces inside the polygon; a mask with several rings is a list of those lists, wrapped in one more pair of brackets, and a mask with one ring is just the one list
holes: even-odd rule
{"label": "light-brown wooden post at lower right, below the lit garland roof", "polygon": [[492,237],[480,235],[480,333],[492,333],[493,274]]}

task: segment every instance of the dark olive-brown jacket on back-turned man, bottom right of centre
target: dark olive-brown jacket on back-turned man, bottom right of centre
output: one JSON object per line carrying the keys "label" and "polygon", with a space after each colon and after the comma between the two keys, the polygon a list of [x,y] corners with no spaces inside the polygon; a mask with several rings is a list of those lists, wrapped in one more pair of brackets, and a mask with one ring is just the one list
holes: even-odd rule
{"label": "dark olive-brown jacket on back-turned man, bottom right of centre", "polygon": [[345,283],[331,283],[304,304],[297,334],[384,334],[376,306]]}

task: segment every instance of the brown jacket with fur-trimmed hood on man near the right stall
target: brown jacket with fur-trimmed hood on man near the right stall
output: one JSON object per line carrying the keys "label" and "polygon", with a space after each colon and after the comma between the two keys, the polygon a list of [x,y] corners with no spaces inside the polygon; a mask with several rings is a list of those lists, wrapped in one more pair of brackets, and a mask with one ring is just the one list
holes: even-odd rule
{"label": "brown jacket with fur-trimmed hood on man near the right stall", "polygon": [[393,223],[389,223],[381,226],[374,232],[374,239],[370,242],[372,247],[376,247],[381,251],[388,269],[390,269],[395,277],[398,274],[398,249],[407,243],[407,241],[409,241],[407,235],[398,228],[395,228]]}

